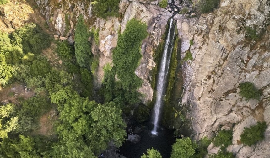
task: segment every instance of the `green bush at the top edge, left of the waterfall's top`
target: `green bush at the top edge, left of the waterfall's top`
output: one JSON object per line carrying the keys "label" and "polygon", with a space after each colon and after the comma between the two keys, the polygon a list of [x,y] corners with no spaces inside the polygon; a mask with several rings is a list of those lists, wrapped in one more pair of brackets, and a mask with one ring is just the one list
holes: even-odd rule
{"label": "green bush at the top edge, left of the waterfall's top", "polygon": [[118,16],[120,0],[96,0],[91,2],[94,5],[94,12],[100,18]]}

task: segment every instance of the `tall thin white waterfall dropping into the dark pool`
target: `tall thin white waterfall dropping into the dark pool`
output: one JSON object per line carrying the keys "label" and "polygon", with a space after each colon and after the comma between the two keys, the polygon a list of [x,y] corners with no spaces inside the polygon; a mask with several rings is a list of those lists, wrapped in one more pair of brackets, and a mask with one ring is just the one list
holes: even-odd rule
{"label": "tall thin white waterfall dropping into the dark pool", "polygon": [[173,24],[173,19],[171,18],[170,28],[167,35],[164,52],[162,54],[162,59],[161,59],[160,68],[159,68],[159,75],[158,75],[158,80],[157,80],[157,97],[156,97],[156,103],[154,105],[154,116],[153,116],[154,129],[151,131],[153,135],[158,134],[157,126],[159,122],[159,115],[160,115],[161,107],[163,104],[163,95],[166,90],[166,81],[167,81],[167,75],[168,75],[168,70],[169,70],[169,65],[170,65],[170,58],[171,58],[171,53],[174,46],[173,44],[174,36],[175,36],[175,25]]}

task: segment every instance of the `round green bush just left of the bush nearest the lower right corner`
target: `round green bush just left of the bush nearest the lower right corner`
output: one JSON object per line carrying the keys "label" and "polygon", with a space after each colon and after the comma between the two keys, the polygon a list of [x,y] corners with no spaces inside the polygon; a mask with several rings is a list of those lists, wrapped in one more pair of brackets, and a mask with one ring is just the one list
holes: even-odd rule
{"label": "round green bush just left of the bush nearest the lower right corner", "polygon": [[218,133],[218,135],[213,140],[213,144],[215,146],[224,145],[224,147],[228,147],[232,144],[233,139],[233,131],[231,130],[222,130]]}

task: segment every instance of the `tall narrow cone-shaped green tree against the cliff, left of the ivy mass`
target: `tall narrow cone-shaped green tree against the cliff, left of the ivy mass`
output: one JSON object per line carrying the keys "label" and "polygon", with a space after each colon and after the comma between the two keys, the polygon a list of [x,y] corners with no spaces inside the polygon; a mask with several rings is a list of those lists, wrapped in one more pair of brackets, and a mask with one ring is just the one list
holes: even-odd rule
{"label": "tall narrow cone-shaped green tree against the cliff, left of the ivy mass", "polygon": [[78,17],[76,30],[75,30],[75,55],[78,61],[78,64],[81,67],[89,67],[90,58],[91,58],[91,47],[88,42],[89,32],[88,27],[84,23],[84,16],[80,15]]}

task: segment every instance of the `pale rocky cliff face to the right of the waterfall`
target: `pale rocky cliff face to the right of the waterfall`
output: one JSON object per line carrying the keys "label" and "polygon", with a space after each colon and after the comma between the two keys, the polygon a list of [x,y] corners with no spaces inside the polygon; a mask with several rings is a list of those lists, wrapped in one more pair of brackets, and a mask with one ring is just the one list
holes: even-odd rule
{"label": "pale rocky cliff face to the right of the waterfall", "polygon": [[[269,157],[270,127],[265,140],[247,147],[237,142],[244,127],[257,121],[270,123],[270,6],[267,0],[221,0],[214,13],[197,18],[176,15],[182,57],[190,47],[193,61],[183,65],[182,103],[191,105],[194,138],[212,136],[220,128],[233,129],[229,147],[239,158]],[[261,34],[258,41],[246,37],[245,27]],[[246,101],[239,84],[252,82],[262,90],[260,101]]]}

